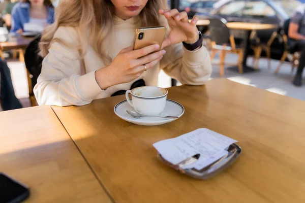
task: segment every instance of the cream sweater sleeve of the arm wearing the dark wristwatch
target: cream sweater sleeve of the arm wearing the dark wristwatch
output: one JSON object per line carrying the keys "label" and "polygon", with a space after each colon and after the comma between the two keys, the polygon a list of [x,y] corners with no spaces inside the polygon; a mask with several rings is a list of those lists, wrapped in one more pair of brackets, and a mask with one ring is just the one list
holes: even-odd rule
{"label": "cream sweater sleeve of the arm wearing the dark wristwatch", "polygon": [[[166,19],[162,18],[162,21],[169,31]],[[166,47],[165,50],[166,54],[160,61],[160,68],[180,83],[203,85],[211,76],[211,61],[204,46],[189,51],[179,43]]]}

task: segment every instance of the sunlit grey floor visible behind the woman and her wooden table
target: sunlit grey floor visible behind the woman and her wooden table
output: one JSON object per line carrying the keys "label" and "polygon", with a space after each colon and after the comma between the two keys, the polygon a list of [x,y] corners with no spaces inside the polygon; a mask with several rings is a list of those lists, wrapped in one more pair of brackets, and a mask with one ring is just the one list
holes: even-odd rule
{"label": "sunlit grey floor visible behind the woman and her wooden table", "polygon": [[[234,63],[237,61],[236,55],[228,55],[226,58],[228,63]],[[219,77],[219,65],[218,55],[212,60],[213,65],[213,73],[211,79]],[[248,63],[252,63],[252,58],[248,60]],[[294,98],[298,98],[301,100],[305,100],[305,85],[302,87],[294,87],[291,84],[293,79],[293,74],[291,73],[291,68],[289,63],[283,64],[281,71],[278,75],[273,74],[275,71],[279,61],[272,60],[271,61],[271,69],[267,68],[267,60],[261,59],[259,63],[259,71],[246,73],[246,74],[238,74],[237,72],[225,70],[225,78],[229,80],[252,85],[258,88],[266,89],[270,92],[275,92],[282,95],[291,96]],[[8,65],[11,70],[13,85],[15,88],[16,96],[21,100],[23,107],[29,107],[30,103],[28,100],[28,87],[27,87],[27,79],[24,64],[19,61],[9,61]],[[163,72],[160,73],[159,86],[161,87],[170,87],[171,80],[170,78]]]}

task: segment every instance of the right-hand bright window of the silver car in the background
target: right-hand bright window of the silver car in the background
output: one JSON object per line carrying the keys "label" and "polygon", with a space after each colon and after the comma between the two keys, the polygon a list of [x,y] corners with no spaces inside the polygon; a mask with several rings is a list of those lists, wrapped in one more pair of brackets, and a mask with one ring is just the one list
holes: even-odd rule
{"label": "right-hand bright window of the silver car in the background", "polygon": [[243,15],[264,17],[264,16],[275,16],[276,12],[265,2],[257,1],[257,2],[248,2],[247,6],[245,7],[245,10],[243,11]]}

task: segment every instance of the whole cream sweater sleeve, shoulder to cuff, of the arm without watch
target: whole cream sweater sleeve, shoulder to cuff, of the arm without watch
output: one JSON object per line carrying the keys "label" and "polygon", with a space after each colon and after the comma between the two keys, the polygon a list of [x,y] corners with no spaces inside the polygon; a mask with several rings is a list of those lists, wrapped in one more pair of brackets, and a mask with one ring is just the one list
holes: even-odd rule
{"label": "whole cream sweater sleeve, shoulder to cuff, of the arm without watch", "polygon": [[[41,74],[34,87],[39,105],[82,106],[103,92],[95,79],[95,72],[81,76],[80,54],[75,46],[75,28],[59,27],[49,53],[43,60]],[[70,46],[69,46],[70,45]]]}

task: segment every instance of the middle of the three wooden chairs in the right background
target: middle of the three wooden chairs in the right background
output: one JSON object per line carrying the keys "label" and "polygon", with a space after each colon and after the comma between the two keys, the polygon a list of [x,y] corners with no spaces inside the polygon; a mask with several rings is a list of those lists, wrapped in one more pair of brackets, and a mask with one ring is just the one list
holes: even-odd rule
{"label": "middle of the three wooden chairs in the right background", "polygon": [[262,43],[261,40],[257,37],[257,33],[256,31],[253,31],[251,33],[250,39],[252,41],[254,41],[254,43],[250,46],[253,51],[254,51],[254,69],[257,70],[258,69],[258,62],[259,59],[261,57],[261,53],[262,51],[265,51],[266,55],[267,55],[267,59],[268,59],[268,69],[270,69],[271,67],[271,44],[273,43],[273,41],[275,41],[275,39],[278,37],[279,35],[279,31],[274,31],[270,37],[270,39],[268,40],[267,43]]}

